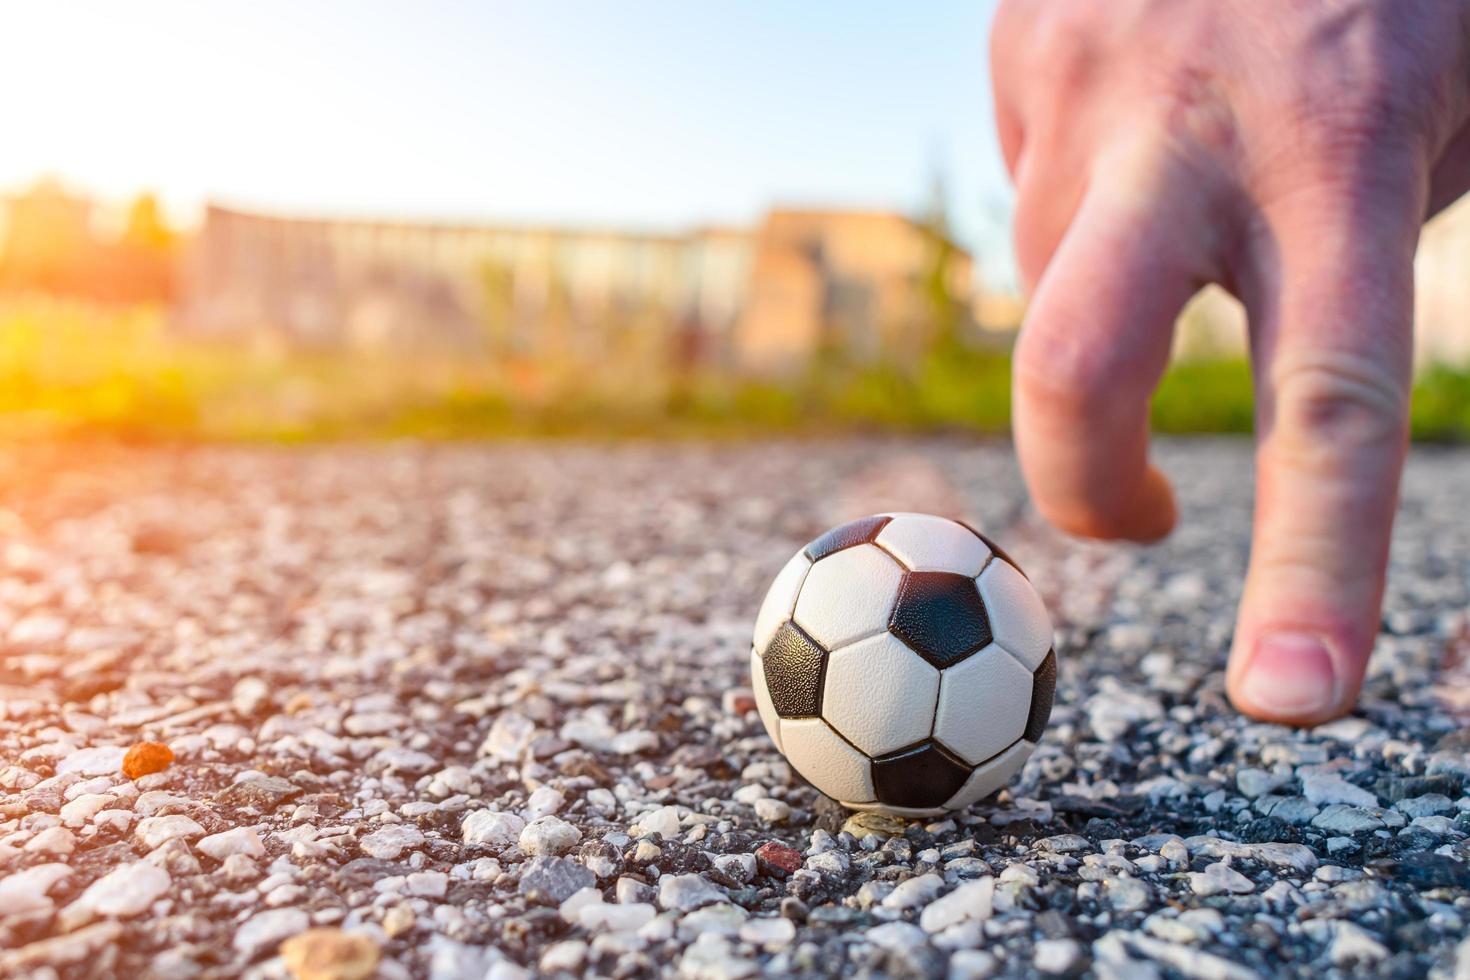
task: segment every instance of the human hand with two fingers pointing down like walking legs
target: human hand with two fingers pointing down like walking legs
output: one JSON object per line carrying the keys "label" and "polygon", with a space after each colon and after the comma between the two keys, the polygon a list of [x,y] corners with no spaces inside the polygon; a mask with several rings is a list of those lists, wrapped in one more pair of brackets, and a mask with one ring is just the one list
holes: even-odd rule
{"label": "human hand with two fingers pointing down like walking legs", "polygon": [[1180,307],[1235,292],[1257,498],[1230,699],[1344,714],[1398,502],[1419,229],[1470,188],[1470,3],[1004,0],[991,65],[1033,294],[1013,397],[1038,508],[1079,535],[1169,532],[1150,395]]}

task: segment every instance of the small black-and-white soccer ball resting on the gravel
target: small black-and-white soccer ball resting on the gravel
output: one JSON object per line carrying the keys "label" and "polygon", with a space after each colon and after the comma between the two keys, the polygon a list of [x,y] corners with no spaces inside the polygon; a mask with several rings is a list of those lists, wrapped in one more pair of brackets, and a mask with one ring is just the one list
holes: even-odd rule
{"label": "small black-and-white soccer ball resting on the gravel", "polygon": [[945,517],[876,514],[792,555],[756,617],[772,741],[854,810],[961,810],[1022,767],[1051,716],[1047,608],[1016,563]]}

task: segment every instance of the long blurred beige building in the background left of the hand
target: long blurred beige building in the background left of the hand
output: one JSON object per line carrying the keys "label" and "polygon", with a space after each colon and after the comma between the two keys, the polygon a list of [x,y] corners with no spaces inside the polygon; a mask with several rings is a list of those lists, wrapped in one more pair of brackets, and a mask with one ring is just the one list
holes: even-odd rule
{"label": "long blurred beige building in the background left of the hand", "polygon": [[[306,219],[210,207],[178,320],[329,348],[598,359],[635,347],[784,372],[835,345],[920,344],[933,235],[885,212],[775,210],[751,229],[657,235]],[[944,253],[956,297],[970,257]]]}

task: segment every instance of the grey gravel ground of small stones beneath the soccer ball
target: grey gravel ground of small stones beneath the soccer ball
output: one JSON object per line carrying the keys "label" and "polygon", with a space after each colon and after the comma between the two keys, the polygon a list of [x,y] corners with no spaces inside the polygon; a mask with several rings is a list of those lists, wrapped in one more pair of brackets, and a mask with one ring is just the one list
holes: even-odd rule
{"label": "grey gravel ground of small stones beneath the soccer ball", "polygon": [[[1248,447],[1163,461],[1145,551],[1048,532],[1004,445],[10,450],[0,976],[1470,977],[1470,454],[1413,458],[1311,732],[1223,696]],[[745,674],[782,561],[888,508],[1058,626],[1041,748],[931,823],[794,777]]]}

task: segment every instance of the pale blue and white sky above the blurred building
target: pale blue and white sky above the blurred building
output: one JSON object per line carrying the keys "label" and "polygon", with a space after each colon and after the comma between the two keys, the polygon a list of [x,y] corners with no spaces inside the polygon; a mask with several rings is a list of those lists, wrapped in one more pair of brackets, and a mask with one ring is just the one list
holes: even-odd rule
{"label": "pale blue and white sky above the blurred building", "polygon": [[0,21],[0,187],[678,228],[919,209],[1005,275],[978,3],[65,3]]}

